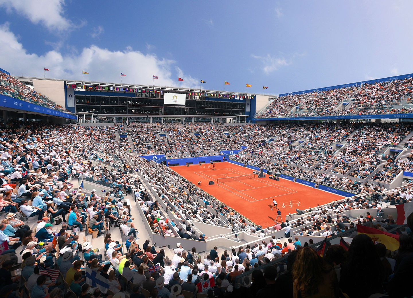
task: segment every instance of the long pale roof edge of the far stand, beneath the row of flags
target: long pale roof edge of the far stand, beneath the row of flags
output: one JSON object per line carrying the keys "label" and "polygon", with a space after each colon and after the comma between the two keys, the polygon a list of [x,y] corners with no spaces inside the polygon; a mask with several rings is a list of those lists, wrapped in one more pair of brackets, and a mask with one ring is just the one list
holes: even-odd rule
{"label": "long pale roof edge of the far stand, beneath the row of flags", "polygon": [[81,80],[64,80],[64,79],[54,79],[54,78],[36,78],[28,76],[14,76],[22,82],[33,82],[36,80],[57,80],[62,81],[66,84],[73,85],[92,85],[92,86],[108,86],[108,87],[122,87],[122,88],[142,88],[142,89],[159,89],[159,90],[169,90],[169,91],[180,91],[180,92],[207,92],[207,93],[220,93],[228,95],[266,95],[268,97],[278,97],[278,95],[262,94],[262,93],[247,93],[247,92],[231,92],[224,90],[209,90],[209,89],[199,89],[199,88],[181,88],[173,86],[157,86],[157,85],[138,85],[138,84],[126,84],[126,83],[110,83],[110,82],[94,82],[94,81],[81,81]]}

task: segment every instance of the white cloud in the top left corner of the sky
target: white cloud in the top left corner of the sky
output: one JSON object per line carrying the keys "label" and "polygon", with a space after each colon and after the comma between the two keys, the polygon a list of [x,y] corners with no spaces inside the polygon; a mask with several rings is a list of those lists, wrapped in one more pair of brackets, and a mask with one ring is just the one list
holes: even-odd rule
{"label": "white cloud in the top left corner of the sky", "polygon": [[40,23],[49,30],[64,31],[79,27],[63,16],[64,0],[0,0],[0,6],[9,13],[15,11],[22,14],[33,24]]}

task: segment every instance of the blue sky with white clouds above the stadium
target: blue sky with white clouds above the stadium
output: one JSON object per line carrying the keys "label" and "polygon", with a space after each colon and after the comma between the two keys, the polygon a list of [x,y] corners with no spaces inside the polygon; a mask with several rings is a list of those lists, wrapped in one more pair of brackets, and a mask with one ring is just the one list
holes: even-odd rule
{"label": "blue sky with white clouds above the stadium", "polygon": [[[269,94],[413,73],[411,1],[0,0],[16,76]],[[184,79],[178,84],[178,77]]]}

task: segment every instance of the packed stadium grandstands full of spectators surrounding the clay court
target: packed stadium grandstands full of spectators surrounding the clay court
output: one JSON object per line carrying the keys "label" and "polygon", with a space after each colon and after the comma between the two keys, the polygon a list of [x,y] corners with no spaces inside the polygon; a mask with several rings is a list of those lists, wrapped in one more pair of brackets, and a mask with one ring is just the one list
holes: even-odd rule
{"label": "packed stadium grandstands full of spectators surrounding the clay court", "polygon": [[[412,295],[410,76],[267,96],[261,106],[258,95],[176,88],[188,101],[178,107],[159,105],[161,86],[66,80],[64,107],[35,85],[0,76],[4,102],[77,115],[3,114],[2,296]],[[106,100],[124,106],[111,110]],[[131,108],[141,102],[145,108]],[[320,116],[327,118],[311,118]],[[274,199],[279,213],[260,210],[277,212],[263,226],[211,195],[209,181],[174,170],[209,163],[340,199],[314,197],[291,212]]]}

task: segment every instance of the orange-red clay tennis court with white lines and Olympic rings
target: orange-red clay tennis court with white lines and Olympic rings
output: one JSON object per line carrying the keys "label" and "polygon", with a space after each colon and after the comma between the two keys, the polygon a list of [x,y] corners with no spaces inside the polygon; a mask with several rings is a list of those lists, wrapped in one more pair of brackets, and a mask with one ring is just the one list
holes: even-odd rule
{"label": "orange-red clay tennis court with white lines and Olympic rings", "polygon": [[[234,180],[229,177],[253,176],[253,170],[229,162],[215,163],[215,170],[209,167],[209,163],[174,166],[172,169],[194,184],[201,181],[200,187],[206,192],[263,227],[273,225],[277,216],[276,208],[270,208],[273,199],[277,201],[284,220],[285,215],[295,213],[296,208],[305,209],[343,198],[282,178],[275,181],[256,175],[255,178]],[[215,184],[208,185],[209,181]]]}

